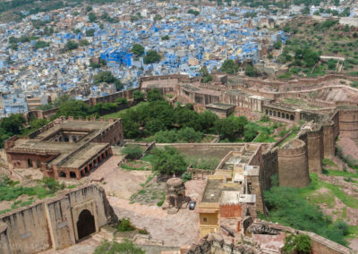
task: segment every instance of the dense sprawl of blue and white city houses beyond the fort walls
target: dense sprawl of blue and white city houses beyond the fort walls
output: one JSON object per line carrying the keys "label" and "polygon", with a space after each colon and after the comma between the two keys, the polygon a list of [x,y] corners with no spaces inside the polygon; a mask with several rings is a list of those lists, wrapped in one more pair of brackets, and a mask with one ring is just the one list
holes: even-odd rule
{"label": "dense sprawl of blue and white city houses beyond the fort walls", "polygon": [[[278,40],[286,42],[283,31],[270,28],[289,18],[262,8],[162,2],[88,7],[24,10],[22,21],[0,25],[0,117],[25,113],[62,94],[87,99],[115,92],[114,84],[94,85],[102,71],[112,72],[127,89],[138,86],[141,76],[195,77],[202,66],[216,72],[226,59],[258,63]],[[78,47],[70,50],[69,41]],[[132,53],[135,44],[145,48],[143,55]],[[149,50],[161,59],[146,63]],[[107,64],[99,64],[101,59]]]}

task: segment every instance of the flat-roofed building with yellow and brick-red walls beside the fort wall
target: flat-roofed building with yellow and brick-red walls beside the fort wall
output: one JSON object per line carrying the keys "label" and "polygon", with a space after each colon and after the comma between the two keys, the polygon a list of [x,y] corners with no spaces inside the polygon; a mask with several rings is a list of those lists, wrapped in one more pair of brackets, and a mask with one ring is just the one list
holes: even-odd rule
{"label": "flat-roofed building with yellow and brick-red walls beside the fort wall", "polygon": [[237,146],[222,159],[213,175],[208,176],[199,203],[200,236],[218,233],[220,227],[234,224],[240,229],[243,218],[256,210],[264,212],[260,187],[260,144]]}

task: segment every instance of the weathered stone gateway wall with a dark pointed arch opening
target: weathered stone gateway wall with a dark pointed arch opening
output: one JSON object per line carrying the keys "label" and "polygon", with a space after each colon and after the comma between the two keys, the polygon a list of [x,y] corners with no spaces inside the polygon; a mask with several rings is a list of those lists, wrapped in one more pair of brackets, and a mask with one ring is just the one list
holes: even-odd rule
{"label": "weathered stone gateway wall with a dark pointed arch opening", "polygon": [[117,221],[102,188],[81,186],[0,216],[0,253],[64,249]]}

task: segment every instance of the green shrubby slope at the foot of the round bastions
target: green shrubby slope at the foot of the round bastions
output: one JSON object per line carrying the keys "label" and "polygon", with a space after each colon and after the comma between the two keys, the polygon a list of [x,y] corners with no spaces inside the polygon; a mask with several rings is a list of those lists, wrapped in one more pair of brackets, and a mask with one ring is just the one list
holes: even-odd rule
{"label": "green shrubby slope at the foot of the round bastions", "polygon": [[[314,175],[312,178],[315,178]],[[348,225],[339,221],[333,222],[330,216],[322,213],[320,207],[310,203],[306,199],[305,194],[312,194],[315,190],[327,188],[324,183],[318,182],[317,175],[312,183],[309,187],[303,189],[276,186],[266,190],[264,197],[269,212],[268,216],[263,218],[268,221],[292,226],[295,229],[318,233],[332,241],[346,245],[345,236],[349,233],[347,230]],[[321,185],[323,187],[320,187]],[[337,196],[337,191],[332,188],[328,189],[331,192],[324,199],[333,206],[332,199],[334,195]],[[319,195],[315,197],[315,199],[320,198]],[[341,198],[339,197],[338,199]]]}

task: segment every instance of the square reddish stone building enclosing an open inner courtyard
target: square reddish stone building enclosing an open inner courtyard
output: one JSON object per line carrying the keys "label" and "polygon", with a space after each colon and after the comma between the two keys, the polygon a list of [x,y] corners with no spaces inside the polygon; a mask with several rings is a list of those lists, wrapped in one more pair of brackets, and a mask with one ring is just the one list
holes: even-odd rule
{"label": "square reddish stone building enclosing an open inner courtyard", "polygon": [[124,141],[122,120],[74,120],[61,117],[29,138],[4,142],[12,168],[38,168],[45,176],[80,179],[112,155]]}

